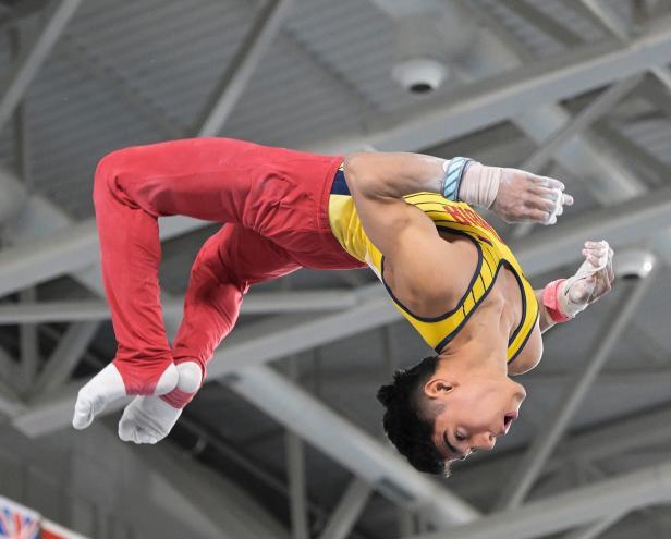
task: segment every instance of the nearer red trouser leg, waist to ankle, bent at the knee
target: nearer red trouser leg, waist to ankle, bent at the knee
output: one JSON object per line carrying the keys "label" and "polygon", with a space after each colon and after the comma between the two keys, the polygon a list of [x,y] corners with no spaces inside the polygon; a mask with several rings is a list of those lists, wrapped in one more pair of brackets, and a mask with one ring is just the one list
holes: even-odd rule
{"label": "nearer red trouser leg, waist to ankle, bent at the knee", "polygon": [[102,278],[119,342],[113,363],[127,394],[152,394],[172,360],[159,302],[157,218],[239,223],[304,265],[359,267],[328,226],[338,161],[224,138],[126,148],[100,161],[94,201]]}

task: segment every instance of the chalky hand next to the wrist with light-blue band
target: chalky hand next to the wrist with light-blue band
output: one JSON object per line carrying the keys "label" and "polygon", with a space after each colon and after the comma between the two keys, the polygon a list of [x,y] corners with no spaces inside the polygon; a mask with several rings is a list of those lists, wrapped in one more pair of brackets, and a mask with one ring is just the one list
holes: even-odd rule
{"label": "chalky hand next to the wrist with light-blue band", "polygon": [[507,222],[554,224],[573,197],[559,180],[517,169],[499,169],[500,181],[491,210]]}

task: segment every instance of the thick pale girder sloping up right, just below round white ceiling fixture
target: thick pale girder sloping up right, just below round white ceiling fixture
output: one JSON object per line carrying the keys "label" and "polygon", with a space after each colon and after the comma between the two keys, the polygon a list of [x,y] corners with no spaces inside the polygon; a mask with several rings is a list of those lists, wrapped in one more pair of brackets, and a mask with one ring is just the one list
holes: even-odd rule
{"label": "thick pale girder sloping up right, just below round white ceiling fixture", "polygon": [[[558,102],[626,78],[671,60],[671,27],[660,21],[627,46],[587,46],[457,90],[449,105],[416,113],[405,122],[366,135],[312,145],[325,152],[419,150],[509,120],[523,111]],[[489,50],[489,47],[488,47]]]}

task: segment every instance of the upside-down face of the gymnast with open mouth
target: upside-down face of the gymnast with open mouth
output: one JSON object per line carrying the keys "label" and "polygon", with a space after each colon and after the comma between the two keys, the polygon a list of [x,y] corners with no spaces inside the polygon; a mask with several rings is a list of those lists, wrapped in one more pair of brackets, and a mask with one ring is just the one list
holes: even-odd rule
{"label": "upside-down face of the gymnast with open mouth", "polygon": [[448,461],[474,451],[493,449],[508,433],[526,397],[524,388],[509,378],[434,377],[424,387],[428,412],[435,415],[434,443]]}

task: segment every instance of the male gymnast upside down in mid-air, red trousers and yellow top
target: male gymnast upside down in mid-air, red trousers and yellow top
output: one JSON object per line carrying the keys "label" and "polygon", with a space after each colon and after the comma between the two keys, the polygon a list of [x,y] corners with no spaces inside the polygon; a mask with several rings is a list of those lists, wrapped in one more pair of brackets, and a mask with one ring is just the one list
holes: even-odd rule
{"label": "male gymnast upside down in mid-air, red trousers and yellow top", "polygon": [[[512,252],[471,205],[553,224],[573,203],[561,182],[465,158],[321,156],[227,138],[122,149],[96,170],[102,278],[119,343],[77,395],[73,425],[138,395],[122,440],[164,438],[233,329],[249,286],[298,268],[368,266],[436,355],[394,375],[378,399],[385,430],[415,468],[490,450],[525,397],[509,377],[534,368],[541,332],[613,281],[612,250],[586,242],[570,279],[534,291]],[[158,217],[224,223],[200,248],[170,346],[162,320]]]}

